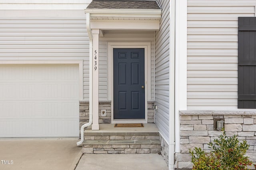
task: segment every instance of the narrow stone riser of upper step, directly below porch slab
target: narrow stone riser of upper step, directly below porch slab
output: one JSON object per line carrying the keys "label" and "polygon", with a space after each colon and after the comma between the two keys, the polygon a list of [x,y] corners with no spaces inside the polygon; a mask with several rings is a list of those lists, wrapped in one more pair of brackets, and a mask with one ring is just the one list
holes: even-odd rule
{"label": "narrow stone riser of upper step, directly below porch slab", "polygon": [[84,140],[139,140],[139,139],[152,139],[159,140],[158,136],[84,136]]}

